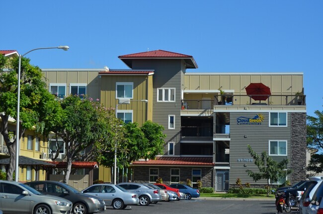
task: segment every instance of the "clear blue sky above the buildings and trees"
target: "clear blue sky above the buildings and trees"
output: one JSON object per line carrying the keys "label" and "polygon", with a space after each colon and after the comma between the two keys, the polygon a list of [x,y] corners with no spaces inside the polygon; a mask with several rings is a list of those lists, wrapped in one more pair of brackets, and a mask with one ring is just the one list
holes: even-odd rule
{"label": "clear blue sky above the buildings and trees", "polygon": [[323,105],[322,0],[1,2],[0,50],[40,68],[128,69],[118,56],[192,55],[197,72],[304,72],[307,111]]}

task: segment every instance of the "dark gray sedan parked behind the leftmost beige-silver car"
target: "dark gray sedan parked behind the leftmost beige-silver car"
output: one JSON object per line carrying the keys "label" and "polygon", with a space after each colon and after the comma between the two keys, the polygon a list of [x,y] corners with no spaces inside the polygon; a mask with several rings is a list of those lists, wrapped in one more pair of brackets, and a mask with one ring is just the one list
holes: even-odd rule
{"label": "dark gray sedan parked behind the leftmost beige-silver car", "polygon": [[74,214],[91,214],[105,211],[102,199],[81,193],[79,190],[58,181],[32,181],[25,183],[42,194],[58,196],[73,202]]}

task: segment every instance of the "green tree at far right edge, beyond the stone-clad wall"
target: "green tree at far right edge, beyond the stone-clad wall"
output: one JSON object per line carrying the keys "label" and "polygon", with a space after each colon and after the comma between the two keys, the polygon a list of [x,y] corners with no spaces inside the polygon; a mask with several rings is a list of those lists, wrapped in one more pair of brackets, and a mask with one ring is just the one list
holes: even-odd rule
{"label": "green tree at far right edge, beyond the stone-clad wall", "polygon": [[[315,111],[316,117],[307,116],[307,146],[309,148],[323,149],[323,111]],[[323,154],[315,153],[311,156],[307,170],[316,173],[323,172]]]}

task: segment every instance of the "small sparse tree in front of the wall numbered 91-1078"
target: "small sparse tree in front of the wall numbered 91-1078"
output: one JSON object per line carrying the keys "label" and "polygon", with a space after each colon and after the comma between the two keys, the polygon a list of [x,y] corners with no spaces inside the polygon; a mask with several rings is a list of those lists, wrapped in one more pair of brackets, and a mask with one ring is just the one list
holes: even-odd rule
{"label": "small sparse tree in front of the wall numbered 91-1078", "polygon": [[253,172],[251,170],[246,170],[248,175],[257,182],[260,179],[267,180],[267,196],[270,193],[271,184],[269,181],[277,181],[280,178],[286,177],[286,175],[292,173],[292,169],[286,169],[289,160],[286,158],[281,162],[274,161],[265,151],[261,152],[261,155],[257,154],[252,150],[251,146],[248,145],[248,152],[254,159],[254,164],[258,167],[258,172]]}

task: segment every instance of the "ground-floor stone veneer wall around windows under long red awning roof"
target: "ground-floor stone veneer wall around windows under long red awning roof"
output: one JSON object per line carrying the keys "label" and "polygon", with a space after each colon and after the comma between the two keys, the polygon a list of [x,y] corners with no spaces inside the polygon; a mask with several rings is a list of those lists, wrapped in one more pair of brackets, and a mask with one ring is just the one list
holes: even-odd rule
{"label": "ground-floor stone veneer wall around windows under long red awning roof", "polygon": [[149,169],[159,168],[159,177],[162,178],[163,183],[170,184],[170,169],[180,169],[179,179],[186,184],[186,179],[192,180],[192,169],[201,169],[202,173],[202,186],[214,187],[213,184],[213,167],[171,167],[171,166],[136,166],[133,167],[134,175],[133,181],[138,183],[149,182]]}

